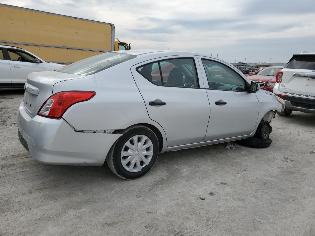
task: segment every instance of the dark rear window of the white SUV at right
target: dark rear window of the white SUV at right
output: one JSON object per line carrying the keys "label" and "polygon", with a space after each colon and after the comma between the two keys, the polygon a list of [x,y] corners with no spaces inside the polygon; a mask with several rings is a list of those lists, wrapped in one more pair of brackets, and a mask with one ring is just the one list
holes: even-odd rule
{"label": "dark rear window of the white SUV at right", "polygon": [[294,55],[284,68],[315,70],[315,55]]}

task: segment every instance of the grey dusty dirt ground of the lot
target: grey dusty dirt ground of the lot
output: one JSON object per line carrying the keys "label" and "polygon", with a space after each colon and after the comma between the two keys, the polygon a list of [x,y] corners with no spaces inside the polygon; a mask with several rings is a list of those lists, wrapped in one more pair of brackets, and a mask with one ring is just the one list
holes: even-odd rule
{"label": "grey dusty dirt ground of the lot", "polygon": [[22,99],[0,90],[1,236],[315,235],[315,114],[277,115],[269,148],[163,153],[125,181],[32,160],[17,135]]}

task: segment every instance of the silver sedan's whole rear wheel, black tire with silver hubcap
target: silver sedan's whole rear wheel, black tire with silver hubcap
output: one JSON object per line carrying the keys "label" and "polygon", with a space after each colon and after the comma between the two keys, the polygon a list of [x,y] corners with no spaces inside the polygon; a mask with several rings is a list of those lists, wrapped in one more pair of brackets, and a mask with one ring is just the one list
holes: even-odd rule
{"label": "silver sedan's whole rear wheel, black tire with silver hubcap", "polygon": [[144,176],[157,160],[157,136],[151,129],[142,125],[130,126],[122,133],[106,157],[107,165],[123,179]]}

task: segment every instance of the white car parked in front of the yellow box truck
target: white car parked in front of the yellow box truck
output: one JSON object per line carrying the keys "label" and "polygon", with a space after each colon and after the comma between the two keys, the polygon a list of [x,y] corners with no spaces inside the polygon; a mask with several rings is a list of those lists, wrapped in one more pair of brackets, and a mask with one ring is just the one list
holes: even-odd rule
{"label": "white car parked in front of the yellow box truck", "polygon": [[29,73],[57,70],[63,66],[45,62],[22,48],[0,45],[0,88],[24,87]]}

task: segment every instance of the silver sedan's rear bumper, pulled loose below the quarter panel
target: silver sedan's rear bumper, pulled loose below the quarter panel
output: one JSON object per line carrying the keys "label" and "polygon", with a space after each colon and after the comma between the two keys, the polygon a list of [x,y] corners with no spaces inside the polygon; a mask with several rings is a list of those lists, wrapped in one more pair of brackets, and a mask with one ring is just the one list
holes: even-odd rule
{"label": "silver sedan's rear bumper, pulled loose below the quarter panel", "polygon": [[29,116],[22,102],[17,126],[22,145],[33,159],[55,165],[102,166],[121,134],[76,132],[63,119]]}

